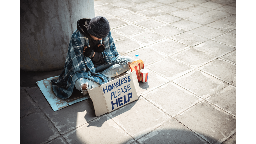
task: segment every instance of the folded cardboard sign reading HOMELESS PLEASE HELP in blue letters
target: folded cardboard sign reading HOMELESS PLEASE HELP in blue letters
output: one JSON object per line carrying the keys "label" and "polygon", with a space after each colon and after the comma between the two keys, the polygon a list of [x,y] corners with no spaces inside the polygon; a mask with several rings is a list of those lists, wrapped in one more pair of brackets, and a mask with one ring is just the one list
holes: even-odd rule
{"label": "folded cardboard sign reading HOMELESS PLEASE HELP in blue letters", "polygon": [[95,115],[100,116],[125,106],[141,95],[136,72],[131,72],[88,90]]}

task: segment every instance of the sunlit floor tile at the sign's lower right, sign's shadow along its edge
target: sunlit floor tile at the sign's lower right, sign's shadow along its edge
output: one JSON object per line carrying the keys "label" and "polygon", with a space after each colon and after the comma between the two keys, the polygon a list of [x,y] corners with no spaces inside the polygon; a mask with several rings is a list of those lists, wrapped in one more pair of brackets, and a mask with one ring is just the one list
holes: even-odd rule
{"label": "sunlit floor tile at the sign's lower right, sign's shadow along its edge", "polygon": [[143,97],[108,115],[136,140],[170,119]]}

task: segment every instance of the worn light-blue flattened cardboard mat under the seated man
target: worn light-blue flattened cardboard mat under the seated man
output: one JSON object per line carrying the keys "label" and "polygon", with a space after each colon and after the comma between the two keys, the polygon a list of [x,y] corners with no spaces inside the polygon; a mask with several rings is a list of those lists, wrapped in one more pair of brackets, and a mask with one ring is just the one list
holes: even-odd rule
{"label": "worn light-blue flattened cardboard mat under the seated man", "polygon": [[81,93],[81,91],[77,90],[76,88],[74,88],[74,91],[72,93],[72,95],[67,98],[67,99],[60,99],[58,98],[53,90],[52,90],[52,84],[51,84],[51,80],[52,79],[58,79],[59,76],[55,76],[55,77],[50,77],[41,81],[36,82],[39,89],[42,91],[44,97],[46,98],[46,100],[48,101],[48,103],[51,105],[53,111],[57,111],[60,110],[64,107],[67,107],[69,105],[72,105],[74,103],[86,100],[88,98],[90,98],[89,94],[87,95],[83,95]]}

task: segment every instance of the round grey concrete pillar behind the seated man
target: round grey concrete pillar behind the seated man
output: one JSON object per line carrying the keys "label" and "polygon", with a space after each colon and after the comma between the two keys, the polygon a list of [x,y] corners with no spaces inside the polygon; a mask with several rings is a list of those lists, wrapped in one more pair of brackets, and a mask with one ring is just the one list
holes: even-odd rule
{"label": "round grey concrete pillar behind the seated man", "polygon": [[20,70],[64,68],[77,21],[94,16],[93,0],[21,0]]}

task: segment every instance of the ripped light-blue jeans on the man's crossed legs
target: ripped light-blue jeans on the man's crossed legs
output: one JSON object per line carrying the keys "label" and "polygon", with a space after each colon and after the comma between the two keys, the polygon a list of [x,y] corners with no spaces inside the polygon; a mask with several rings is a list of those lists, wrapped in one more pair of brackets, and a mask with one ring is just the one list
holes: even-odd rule
{"label": "ripped light-blue jeans on the man's crossed legs", "polygon": [[[127,64],[128,62],[132,62],[132,59],[130,57],[119,56],[112,64],[104,63],[97,66],[95,68],[95,72],[101,72],[106,77],[108,77],[109,80],[113,80],[115,76],[120,75],[130,69],[130,67]],[[86,90],[82,90],[84,84],[87,84]],[[87,90],[98,86],[100,86],[98,83],[86,78],[80,78],[76,80],[75,83],[76,89],[81,90],[83,94],[86,94]]]}

